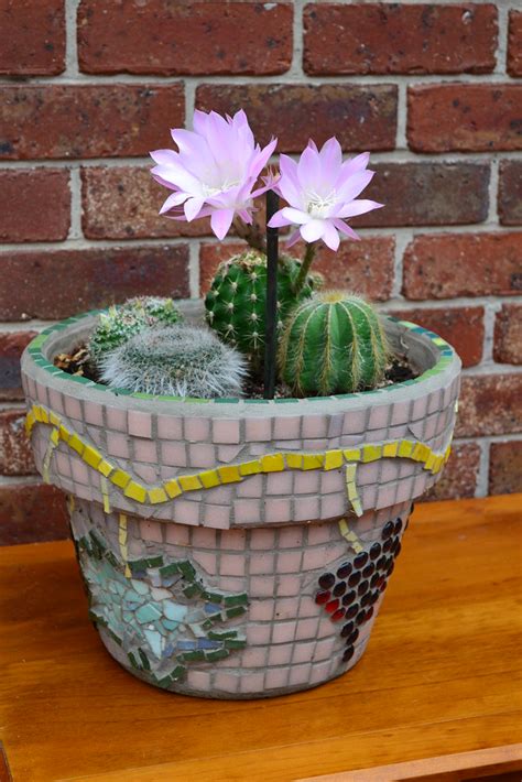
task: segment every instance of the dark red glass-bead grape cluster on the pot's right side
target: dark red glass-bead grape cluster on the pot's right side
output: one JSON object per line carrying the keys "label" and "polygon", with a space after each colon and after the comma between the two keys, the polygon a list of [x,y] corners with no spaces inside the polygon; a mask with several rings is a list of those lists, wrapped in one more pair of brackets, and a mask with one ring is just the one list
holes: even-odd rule
{"label": "dark red glass-bead grape cluster on the pot's right side", "polygon": [[315,601],[333,622],[344,622],[340,636],[345,663],[354,656],[360,628],[372,618],[374,604],[388,586],[401,552],[401,533],[406,526],[407,520],[404,524],[401,518],[387,522],[380,541],[319,576]]}

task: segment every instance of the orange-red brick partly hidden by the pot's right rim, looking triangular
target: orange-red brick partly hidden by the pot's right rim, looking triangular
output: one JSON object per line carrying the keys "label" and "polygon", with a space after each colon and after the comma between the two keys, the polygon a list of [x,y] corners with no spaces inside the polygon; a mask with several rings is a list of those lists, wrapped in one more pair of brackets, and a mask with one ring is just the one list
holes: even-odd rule
{"label": "orange-red brick partly hidden by the pot's right rim, looking triangular", "polygon": [[401,308],[390,315],[438,334],[453,345],[464,367],[474,367],[482,360],[483,307]]}

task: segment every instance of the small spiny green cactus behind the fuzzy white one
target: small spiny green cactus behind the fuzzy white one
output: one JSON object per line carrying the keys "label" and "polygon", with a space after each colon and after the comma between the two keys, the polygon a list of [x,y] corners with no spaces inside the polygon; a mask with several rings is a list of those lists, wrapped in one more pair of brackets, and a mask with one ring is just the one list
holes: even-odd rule
{"label": "small spiny green cactus behind the fuzzy white one", "polygon": [[157,324],[172,325],[180,321],[182,315],[172,298],[129,298],[124,304],[116,304],[100,315],[88,344],[90,357],[98,365],[108,350],[113,350],[143,328]]}

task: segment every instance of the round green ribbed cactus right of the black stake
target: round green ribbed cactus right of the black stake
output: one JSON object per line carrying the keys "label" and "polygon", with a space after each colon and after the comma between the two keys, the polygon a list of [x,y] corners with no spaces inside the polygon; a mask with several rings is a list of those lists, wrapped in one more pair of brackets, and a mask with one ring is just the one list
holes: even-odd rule
{"label": "round green ribbed cactus right of the black stake", "polygon": [[387,339],[370,304],[325,292],[290,314],[278,359],[282,379],[298,397],[351,393],[382,379]]}

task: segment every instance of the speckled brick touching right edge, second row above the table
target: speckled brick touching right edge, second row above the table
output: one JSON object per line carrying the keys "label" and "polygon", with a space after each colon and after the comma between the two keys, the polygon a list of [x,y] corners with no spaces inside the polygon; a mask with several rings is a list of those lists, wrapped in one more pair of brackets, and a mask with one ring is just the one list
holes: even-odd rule
{"label": "speckled brick touching right edge, second row above the table", "polygon": [[522,431],[522,373],[467,374],[463,378],[455,435],[511,434]]}

